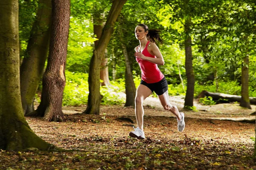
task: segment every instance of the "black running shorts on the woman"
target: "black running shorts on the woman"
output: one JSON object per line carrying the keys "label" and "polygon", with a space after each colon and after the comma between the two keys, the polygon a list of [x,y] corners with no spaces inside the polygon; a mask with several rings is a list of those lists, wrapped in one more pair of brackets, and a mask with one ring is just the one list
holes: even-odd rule
{"label": "black running shorts on the woman", "polygon": [[154,83],[147,83],[141,80],[140,84],[147,86],[152,91],[152,93],[154,91],[158,96],[164,94],[168,90],[168,84],[165,77],[163,77],[163,79],[161,79],[159,82]]}

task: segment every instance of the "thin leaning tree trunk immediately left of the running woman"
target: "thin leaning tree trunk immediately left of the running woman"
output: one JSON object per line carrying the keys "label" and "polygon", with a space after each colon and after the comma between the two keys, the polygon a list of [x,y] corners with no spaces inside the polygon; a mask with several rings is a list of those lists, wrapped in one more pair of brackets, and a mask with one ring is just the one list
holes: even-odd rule
{"label": "thin leaning tree trunk immediately left of the running woman", "polygon": [[126,102],[125,107],[127,106],[135,106],[135,95],[136,95],[136,87],[134,83],[134,79],[131,72],[131,65],[129,62],[129,56],[127,53],[127,48],[123,43],[123,33],[122,27],[119,26],[119,34],[120,34],[120,43],[122,45],[123,54],[125,56],[125,94],[126,94]]}

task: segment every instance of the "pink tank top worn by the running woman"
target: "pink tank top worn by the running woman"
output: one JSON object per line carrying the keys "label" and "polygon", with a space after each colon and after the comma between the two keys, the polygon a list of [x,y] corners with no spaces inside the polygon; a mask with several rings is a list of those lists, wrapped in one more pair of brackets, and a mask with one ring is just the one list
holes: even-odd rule
{"label": "pink tank top worn by the running woman", "polygon": [[[152,57],[152,58],[157,58],[154,55],[151,55],[148,52],[148,44],[150,41],[147,42],[146,47],[144,50],[141,52],[145,57]],[[138,49],[137,49],[138,52]],[[163,79],[164,75],[163,73],[159,70],[157,64],[154,64],[153,62],[149,62],[143,59],[136,58],[137,62],[140,65],[141,69],[141,79],[147,83],[154,83],[154,82],[159,82],[161,79]]]}

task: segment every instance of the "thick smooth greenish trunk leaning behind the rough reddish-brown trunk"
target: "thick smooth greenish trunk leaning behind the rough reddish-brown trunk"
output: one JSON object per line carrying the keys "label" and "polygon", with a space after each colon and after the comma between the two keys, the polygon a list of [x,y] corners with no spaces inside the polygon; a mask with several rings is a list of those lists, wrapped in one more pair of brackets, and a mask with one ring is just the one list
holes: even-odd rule
{"label": "thick smooth greenish trunk leaning behind the rough reddish-brown trunk", "polygon": [[26,50],[27,56],[20,67],[20,95],[25,115],[34,111],[33,100],[44,73],[44,63],[49,48],[52,4],[51,0],[40,0],[39,4]]}

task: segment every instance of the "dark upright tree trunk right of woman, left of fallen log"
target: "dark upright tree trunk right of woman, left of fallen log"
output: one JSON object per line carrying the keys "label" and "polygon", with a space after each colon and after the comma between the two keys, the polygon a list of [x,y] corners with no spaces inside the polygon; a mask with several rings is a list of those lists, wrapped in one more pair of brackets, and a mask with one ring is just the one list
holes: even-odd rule
{"label": "dark upright tree trunk right of woman, left of fallen log", "polygon": [[193,99],[194,99],[194,86],[195,86],[195,76],[193,71],[192,64],[192,48],[191,48],[191,37],[189,36],[189,31],[191,26],[191,17],[185,20],[185,32],[186,32],[186,40],[185,40],[185,68],[186,68],[186,78],[187,78],[187,90],[184,107],[192,107]]}

